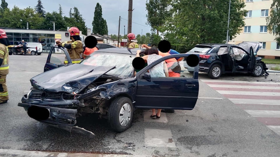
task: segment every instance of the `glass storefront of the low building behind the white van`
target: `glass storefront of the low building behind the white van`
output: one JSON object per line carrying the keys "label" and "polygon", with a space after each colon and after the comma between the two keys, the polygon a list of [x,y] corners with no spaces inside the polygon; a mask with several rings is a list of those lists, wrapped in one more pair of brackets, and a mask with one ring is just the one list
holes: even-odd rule
{"label": "glass storefront of the low building behind the white van", "polygon": [[49,45],[55,44],[55,34],[46,33],[9,33],[7,32],[8,40],[13,45],[18,45],[22,40],[24,42],[40,42],[43,52],[51,49]]}

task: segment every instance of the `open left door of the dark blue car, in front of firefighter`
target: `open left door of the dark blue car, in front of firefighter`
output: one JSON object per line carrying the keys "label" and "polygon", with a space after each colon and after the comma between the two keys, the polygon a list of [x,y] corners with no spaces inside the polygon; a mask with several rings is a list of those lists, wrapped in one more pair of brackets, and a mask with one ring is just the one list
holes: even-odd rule
{"label": "open left door of the dark blue car, in front of firefighter", "polygon": [[[61,53],[57,53],[59,51],[57,50],[61,50]],[[55,50],[55,51],[53,51]],[[58,47],[58,46],[53,46],[50,49],[45,67],[44,67],[44,72],[51,70],[51,69],[55,69],[57,67],[61,67],[64,66],[64,60],[65,58],[67,58],[68,64],[72,64],[71,58],[69,56],[69,53],[67,51],[67,49],[65,49],[64,47]]]}

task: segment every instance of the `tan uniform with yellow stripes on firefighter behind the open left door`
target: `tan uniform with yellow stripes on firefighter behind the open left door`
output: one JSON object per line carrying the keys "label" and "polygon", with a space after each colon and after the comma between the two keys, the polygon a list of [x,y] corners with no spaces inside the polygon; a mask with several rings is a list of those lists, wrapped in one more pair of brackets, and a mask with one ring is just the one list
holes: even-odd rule
{"label": "tan uniform with yellow stripes on firefighter behind the open left door", "polygon": [[[69,56],[71,58],[72,63],[80,63],[81,62],[81,56],[80,54],[83,52],[83,43],[81,40],[70,40],[66,42],[62,42],[61,46],[64,47],[65,44],[71,44],[71,49],[67,49]],[[65,58],[64,61],[65,64],[68,63],[67,59]]]}

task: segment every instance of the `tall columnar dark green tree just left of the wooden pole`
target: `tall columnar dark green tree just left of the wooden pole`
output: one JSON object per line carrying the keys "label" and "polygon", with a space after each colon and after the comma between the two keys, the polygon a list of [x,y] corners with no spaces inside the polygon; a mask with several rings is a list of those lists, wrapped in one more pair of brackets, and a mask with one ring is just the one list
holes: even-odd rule
{"label": "tall columnar dark green tree just left of the wooden pole", "polygon": [[105,19],[102,17],[102,7],[96,3],[94,17],[92,21],[92,33],[105,35],[108,34],[108,26]]}

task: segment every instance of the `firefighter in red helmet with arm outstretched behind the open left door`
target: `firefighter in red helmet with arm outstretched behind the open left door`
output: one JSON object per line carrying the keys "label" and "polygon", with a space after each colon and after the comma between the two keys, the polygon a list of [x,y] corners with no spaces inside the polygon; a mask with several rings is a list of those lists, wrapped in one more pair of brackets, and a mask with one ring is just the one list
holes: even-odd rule
{"label": "firefighter in red helmet with arm outstretched behind the open left door", "polygon": [[[71,27],[68,30],[70,32],[70,41],[60,42],[56,41],[57,45],[61,45],[62,47],[67,48],[69,56],[71,58],[72,63],[80,63],[81,62],[81,53],[83,53],[83,43],[80,38],[80,30],[77,27]],[[64,64],[67,64],[68,61],[65,57]]]}

